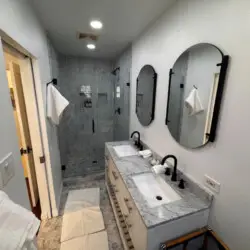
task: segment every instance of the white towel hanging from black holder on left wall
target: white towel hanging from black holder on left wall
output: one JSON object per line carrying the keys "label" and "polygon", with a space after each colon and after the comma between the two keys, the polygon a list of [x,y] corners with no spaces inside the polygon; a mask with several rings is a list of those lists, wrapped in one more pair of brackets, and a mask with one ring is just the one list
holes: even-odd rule
{"label": "white towel hanging from black holder on left wall", "polygon": [[52,84],[49,84],[47,89],[47,117],[55,125],[59,125],[62,113],[68,105],[69,102],[60,92]]}

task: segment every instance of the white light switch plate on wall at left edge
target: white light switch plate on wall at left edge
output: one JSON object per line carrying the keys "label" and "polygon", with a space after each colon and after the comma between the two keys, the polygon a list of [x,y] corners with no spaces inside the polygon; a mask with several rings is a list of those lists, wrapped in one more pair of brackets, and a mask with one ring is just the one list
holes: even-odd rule
{"label": "white light switch plate on wall at left edge", "polygon": [[0,172],[2,184],[3,186],[6,186],[10,179],[15,175],[14,158],[12,153],[9,153],[0,161]]}

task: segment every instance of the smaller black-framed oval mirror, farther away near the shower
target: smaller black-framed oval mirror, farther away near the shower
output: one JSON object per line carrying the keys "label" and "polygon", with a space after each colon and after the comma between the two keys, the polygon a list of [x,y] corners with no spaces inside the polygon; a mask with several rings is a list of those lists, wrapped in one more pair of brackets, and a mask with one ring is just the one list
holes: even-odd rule
{"label": "smaller black-framed oval mirror, farther away near the shower", "polygon": [[157,74],[151,65],[145,65],[137,78],[136,115],[143,126],[154,120]]}

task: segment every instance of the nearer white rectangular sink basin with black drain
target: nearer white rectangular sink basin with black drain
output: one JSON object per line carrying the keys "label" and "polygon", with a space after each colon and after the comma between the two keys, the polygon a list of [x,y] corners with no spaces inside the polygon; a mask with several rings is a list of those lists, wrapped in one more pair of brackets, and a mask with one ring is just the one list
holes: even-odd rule
{"label": "nearer white rectangular sink basin with black drain", "polygon": [[145,173],[135,175],[132,178],[149,207],[156,207],[181,199],[160,176]]}

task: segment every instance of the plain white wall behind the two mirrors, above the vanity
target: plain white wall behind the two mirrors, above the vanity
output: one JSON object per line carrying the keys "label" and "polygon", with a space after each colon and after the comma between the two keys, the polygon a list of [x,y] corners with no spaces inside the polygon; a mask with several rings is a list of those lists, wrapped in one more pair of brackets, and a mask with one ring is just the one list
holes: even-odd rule
{"label": "plain white wall behind the two mirrors, above the vanity", "polygon": [[[200,183],[208,174],[221,183],[209,224],[235,250],[249,249],[250,234],[250,2],[186,0],[174,4],[133,44],[130,129],[161,156],[175,154],[179,167]],[[215,143],[187,150],[165,126],[168,72],[188,47],[208,42],[231,56]],[[158,76],[155,121],[143,128],[135,115],[136,77],[144,64]]]}

